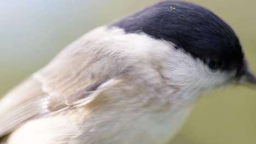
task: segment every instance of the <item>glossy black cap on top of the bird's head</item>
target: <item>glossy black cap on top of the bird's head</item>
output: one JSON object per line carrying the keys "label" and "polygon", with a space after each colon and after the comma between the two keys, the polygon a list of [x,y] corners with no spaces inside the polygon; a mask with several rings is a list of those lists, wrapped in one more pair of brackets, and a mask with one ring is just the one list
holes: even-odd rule
{"label": "glossy black cap on top of the bird's head", "polygon": [[237,35],[216,14],[199,5],[160,2],[112,26],[123,28],[127,33],[144,33],[154,39],[170,41],[176,49],[183,49],[203,62],[214,59],[219,69],[243,73],[245,59]]}

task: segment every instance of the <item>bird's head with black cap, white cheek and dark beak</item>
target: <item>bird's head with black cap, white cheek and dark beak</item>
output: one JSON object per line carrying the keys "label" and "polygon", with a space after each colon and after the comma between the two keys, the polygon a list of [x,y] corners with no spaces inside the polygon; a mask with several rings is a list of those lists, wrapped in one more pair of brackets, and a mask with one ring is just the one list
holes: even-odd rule
{"label": "bird's head with black cap, white cheek and dark beak", "polygon": [[168,85],[202,92],[232,82],[256,85],[235,32],[199,5],[160,2],[111,26],[126,33],[146,34],[169,45],[167,62],[162,68]]}

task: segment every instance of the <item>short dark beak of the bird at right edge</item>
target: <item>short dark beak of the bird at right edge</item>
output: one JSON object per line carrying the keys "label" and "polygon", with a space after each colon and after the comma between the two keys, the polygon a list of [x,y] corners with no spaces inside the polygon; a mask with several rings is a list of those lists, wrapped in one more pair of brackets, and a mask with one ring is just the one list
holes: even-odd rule
{"label": "short dark beak of the bird at right edge", "polygon": [[240,83],[243,85],[255,86],[256,88],[256,76],[253,75],[249,70],[245,71],[245,74],[240,79]]}

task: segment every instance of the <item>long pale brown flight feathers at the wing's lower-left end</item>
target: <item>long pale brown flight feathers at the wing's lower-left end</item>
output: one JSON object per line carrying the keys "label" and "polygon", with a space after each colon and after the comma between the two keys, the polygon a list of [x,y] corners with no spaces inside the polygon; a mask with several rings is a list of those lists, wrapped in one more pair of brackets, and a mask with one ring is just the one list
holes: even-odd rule
{"label": "long pale brown flight feathers at the wing's lower-left end", "polygon": [[45,93],[40,87],[38,81],[28,79],[0,101],[0,137],[22,122],[45,112],[46,104],[42,103]]}

